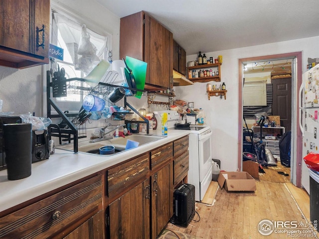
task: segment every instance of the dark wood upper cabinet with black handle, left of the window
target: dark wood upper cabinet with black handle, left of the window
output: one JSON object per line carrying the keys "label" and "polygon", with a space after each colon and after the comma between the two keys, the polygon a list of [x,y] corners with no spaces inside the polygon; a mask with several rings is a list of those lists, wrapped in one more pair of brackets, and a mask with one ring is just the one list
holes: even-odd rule
{"label": "dark wood upper cabinet with black handle, left of the window", "polygon": [[0,1],[0,65],[49,63],[50,0]]}

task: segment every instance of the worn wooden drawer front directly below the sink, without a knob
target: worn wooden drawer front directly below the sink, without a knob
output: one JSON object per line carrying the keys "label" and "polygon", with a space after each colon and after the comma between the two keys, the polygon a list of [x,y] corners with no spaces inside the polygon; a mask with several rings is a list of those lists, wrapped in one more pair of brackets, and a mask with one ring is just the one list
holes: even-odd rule
{"label": "worn wooden drawer front directly below the sink, without a knob", "polygon": [[110,201],[124,194],[131,186],[143,181],[149,172],[149,154],[145,153],[108,170],[108,195]]}

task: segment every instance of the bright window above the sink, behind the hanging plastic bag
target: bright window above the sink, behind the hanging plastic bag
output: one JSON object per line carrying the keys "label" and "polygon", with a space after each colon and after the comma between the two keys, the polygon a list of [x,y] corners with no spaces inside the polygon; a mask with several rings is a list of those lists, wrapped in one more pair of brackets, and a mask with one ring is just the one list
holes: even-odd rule
{"label": "bright window above the sink, behind the hanging plastic bag", "polygon": [[[52,13],[51,44],[63,48],[63,61],[54,59],[51,68],[64,68],[67,79],[85,78],[102,60],[112,62],[112,52],[108,50],[108,36],[90,30],[84,23],[79,23],[57,12]],[[67,96],[56,98],[57,102],[80,103],[90,90],[90,86],[81,81],[67,82]],[[63,107],[68,109],[67,107]],[[72,107],[69,107],[72,109]]]}

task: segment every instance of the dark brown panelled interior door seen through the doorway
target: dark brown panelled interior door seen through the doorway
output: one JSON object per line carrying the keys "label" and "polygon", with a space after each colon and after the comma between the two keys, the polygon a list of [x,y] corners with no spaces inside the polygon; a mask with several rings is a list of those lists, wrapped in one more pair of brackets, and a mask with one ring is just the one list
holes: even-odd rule
{"label": "dark brown panelled interior door seen through the doorway", "polygon": [[280,124],[285,127],[285,132],[291,130],[291,78],[272,79],[274,116],[280,116]]}

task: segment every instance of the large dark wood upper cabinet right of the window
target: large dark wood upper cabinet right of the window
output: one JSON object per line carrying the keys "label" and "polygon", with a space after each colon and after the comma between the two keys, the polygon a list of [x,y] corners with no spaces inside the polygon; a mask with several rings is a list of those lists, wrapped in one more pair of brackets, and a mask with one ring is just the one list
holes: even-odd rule
{"label": "large dark wood upper cabinet right of the window", "polygon": [[148,63],[146,90],[171,87],[173,34],[144,11],[121,18],[120,59],[126,56]]}

